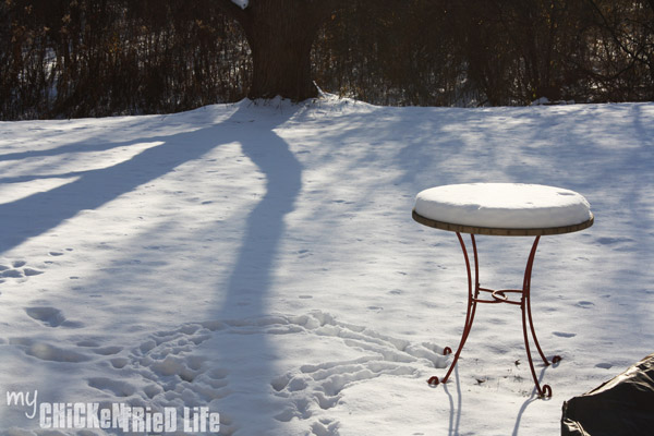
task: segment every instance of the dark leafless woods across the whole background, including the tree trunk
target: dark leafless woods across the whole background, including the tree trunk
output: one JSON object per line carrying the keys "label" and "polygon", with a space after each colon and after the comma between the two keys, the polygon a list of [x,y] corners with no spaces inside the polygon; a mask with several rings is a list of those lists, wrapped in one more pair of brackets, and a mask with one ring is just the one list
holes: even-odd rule
{"label": "dark leafless woods across the whole background, including the tree trunk", "polygon": [[256,66],[295,46],[323,90],[379,105],[654,100],[654,0],[250,3],[0,0],[0,119],[270,97],[292,63]]}

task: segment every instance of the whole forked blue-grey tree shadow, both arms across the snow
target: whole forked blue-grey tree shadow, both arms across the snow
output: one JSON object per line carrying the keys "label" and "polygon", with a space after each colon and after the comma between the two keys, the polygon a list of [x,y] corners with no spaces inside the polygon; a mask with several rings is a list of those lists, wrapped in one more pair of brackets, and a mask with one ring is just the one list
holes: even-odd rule
{"label": "whole forked blue-grey tree shadow, both arms across the snow", "polygon": [[[0,205],[0,219],[4,227],[4,237],[0,238],[0,253],[56,228],[82,210],[97,209],[120,195],[173,171],[184,162],[201,158],[222,144],[238,142],[243,154],[265,174],[266,194],[247,217],[245,234],[227,283],[225,299],[220,307],[209,310],[207,315],[216,319],[265,316],[275,258],[284,232],[283,219],[294,208],[302,185],[302,168],[289,150],[288,144],[274,132],[274,129],[287,121],[293,112],[284,116],[275,112],[272,117],[256,120],[249,125],[255,130],[255,134],[244,136],[243,126],[239,124],[243,121],[246,108],[246,104],[241,104],[240,109],[228,120],[209,128],[143,138],[147,142],[160,141],[164,144],[148,148],[112,167],[75,172],[74,175],[78,177],[76,181],[48,192]],[[252,114],[247,117],[251,118]],[[135,138],[112,146],[129,146],[140,143],[141,140]],[[99,147],[108,148],[104,145]],[[222,290],[217,291],[222,295]],[[243,335],[239,350],[219,351],[221,354],[252,354],[252,359],[272,354],[265,335]],[[249,359],[247,355],[243,358]],[[263,371],[266,374],[259,373],[259,377],[272,378],[270,365],[264,364]],[[261,391],[247,393],[250,398],[264,399],[269,395],[269,385],[261,386]],[[252,410],[254,411],[254,405]],[[275,423],[268,422],[266,425],[272,429]]]}

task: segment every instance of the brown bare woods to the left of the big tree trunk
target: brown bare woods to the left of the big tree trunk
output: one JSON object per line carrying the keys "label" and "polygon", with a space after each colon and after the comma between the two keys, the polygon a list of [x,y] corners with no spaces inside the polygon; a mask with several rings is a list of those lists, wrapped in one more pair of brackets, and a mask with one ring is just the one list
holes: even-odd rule
{"label": "brown bare woods to the left of the big tree trunk", "polygon": [[165,113],[242,98],[240,27],[211,0],[1,0],[3,119]]}

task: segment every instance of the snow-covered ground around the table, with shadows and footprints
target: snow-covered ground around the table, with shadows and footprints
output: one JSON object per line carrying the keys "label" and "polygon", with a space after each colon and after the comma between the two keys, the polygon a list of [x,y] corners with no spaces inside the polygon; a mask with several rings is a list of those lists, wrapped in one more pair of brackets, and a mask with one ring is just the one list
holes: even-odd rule
{"label": "snow-covered ground around the table, with shadows and footprints", "polygon": [[[155,425],[126,434],[166,410],[209,434],[184,408],[219,413],[221,435],[557,434],[564,400],[654,351],[653,165],[653,104],[0,123],[0,432],[123,434],[88,415],[126,404]],[[481,305],[450,382],[426,383],[459,342],[465,269],[411,209],[468,182],[592,205],[534,266],[538,339],[564,358],[536,366],[552,399],[507,304]],[[521,284],[531,238],[477,243],[482,286]],[[56,408],[80,428],[41,429]]]}

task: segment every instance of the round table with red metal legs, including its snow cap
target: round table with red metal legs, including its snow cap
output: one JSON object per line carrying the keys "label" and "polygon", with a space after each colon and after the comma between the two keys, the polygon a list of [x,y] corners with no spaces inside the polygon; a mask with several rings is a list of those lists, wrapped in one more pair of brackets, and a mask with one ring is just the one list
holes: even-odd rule
{"label": "round table with red metal legs, including its snow cap", "polygon": [[[449,190],[449,191],[448,191]],[[511,196],[514,193],[514,197],[507,199],[506,208],[502,208],[502,199],[487,199],[488,193],[493,193],[494,190],[505,196]],[[530,197],[530,192],[533,191],[536,198]],[[544,194],[544,195],[541,195]],[[423,198],[421,198],[421,195]],[[574,206],[577,209],[570,211],[570,207],[567,209],[560,206],[561,214],[557,215],[557,202],[559,198],[557,195],[570,196],[572,203],[577,202]],[[457,198],[459,196],[460,198]],[[467,198],[470,196],[470,198]],[[492,196],[492,195],[491,195]],[[426,199],[425,199],[426,198]],[[452,199],[456,198],[456,199]],[[552,201],[550,201],[552,199]],[[568,198],[566,198],[568,199]],[[431,203],[429,203],[431,202]],[[521,203],[524,203],[524,207],[520,207]],[[554,202],[554,206],[553,206]],[[516,204],[517,203],[517,204]],[[538,209],[541,207],[541,209]],[[525,211],[525,208],[528,209]],[[422,210],[424,215],[419,211]],[[531,214],[531,215],[530,215]],[[412,211],[413,219],[421,225],[433,227],[436,229],[452,231],[457,234],[461,250],[463,251],[463,258],[465,261],[465,269],[468,271],[468,310],[465,314],[465,324],[463,326],[463,334],[459,342],[459,347],[455,353],[455,358],[450,367],[443,379],[437,376],[431,377],[427,383],[429,385],[438,385],[446,383],[452,373],[463,346],[468,340],[468,336],[472,329],[476,306],[479,303],[484,304],[513,304],[520,306],[522,313],[522,331],[524,337],[524,348],[529,361],[531,374],[536,386],[538,397],[552,397],[552,387],[549,385],[541,386],[534,368],[534,363],[531,353],[531,346],[529,334],[543,360],[543,363],[548,366],[552,363],[557,363],[561,360],[560,356],[555,355],[552,362],[547,360],[534,328],[534,322],[531,312],[531,276],[536,255],[536,249],[538,241],[543,235],[550,234],[562,234],[576,232],[579,230],[591,227],[594,222],[594,216],[590,211],[590,205],[581,195],[567,190],[561,190],[553,186],[542,185],[524,185],[524,184],[509,184],[509,183],[475,183],[464,185],[446,185],[438,186],[432,190],[425,190],[421,192],[416,197],[416,204]],[[428,216],[425,216],[428,215]],[[440,216],[445,216],[449,221],[441,221]],[[512,221],[512,216],[519,216],[518,221]],[[579,221],[581,218],[585,218]],[[455,221],[460,222],[452,222]],[[547,226],[547,222],[556,222],[556,226]],[[579,222],[569,222],[579,221]],[[461,223],[463,222],[463,223]],[[479,223],[491,222],[493,227],[479,226]],[[511,227],[502,226],[504,222],[509,223]],[[531,226],[535,222],[536,226]],[[499,223],[499,226],[498,226]],[[562,225],[561,225],[562,223]],[[474,279],[472,277],[472,268],[469,258],[469,251],[467,244],[463,241],[461,233],[469,233],[472,244],[473,264],[474,264]],[[489,288],[482,288],[480,286],[480,263],[476,247],[475,235],[495,235],[495,237],[535,237],[532,244],[526,267],[524,269],[524,277],[522,280],[521,289],[502,289],[494,290]],[[482,296],[481,296],[482,295]],[[485,296],[485,298],[484,298]],[[449,347],[444,350],[445,354],[450,354],[452,351]]]}

